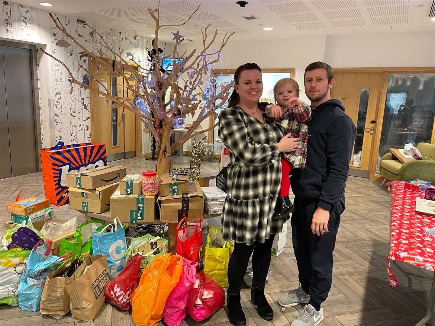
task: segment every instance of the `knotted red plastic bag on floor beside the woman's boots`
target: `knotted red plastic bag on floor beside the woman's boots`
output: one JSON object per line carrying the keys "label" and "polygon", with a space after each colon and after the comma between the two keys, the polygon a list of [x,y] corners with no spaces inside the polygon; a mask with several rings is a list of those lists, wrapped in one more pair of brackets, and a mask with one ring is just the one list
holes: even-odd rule
{"label": "knotted red plastic bag on floor beside the woman's boots", "polygon": [[187,312],[195,321],[207,319],[225,304],[225,290],[204,271],[196,274],[196,283],[187,296]]}

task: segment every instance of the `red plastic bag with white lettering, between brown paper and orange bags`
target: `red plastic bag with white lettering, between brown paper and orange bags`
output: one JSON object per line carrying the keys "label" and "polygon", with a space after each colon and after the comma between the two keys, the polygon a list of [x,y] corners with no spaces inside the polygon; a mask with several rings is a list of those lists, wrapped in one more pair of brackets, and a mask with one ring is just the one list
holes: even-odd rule
{"label": "red plastic bag with white lettering, between brown paper and orange bags", "polygon": [[112,279],[104,290],[106,300],[118,308],[128,311],[131,309],[130,297],[139,285],[139,268],[142,256],[137,253],[130,258],[124,269]]}

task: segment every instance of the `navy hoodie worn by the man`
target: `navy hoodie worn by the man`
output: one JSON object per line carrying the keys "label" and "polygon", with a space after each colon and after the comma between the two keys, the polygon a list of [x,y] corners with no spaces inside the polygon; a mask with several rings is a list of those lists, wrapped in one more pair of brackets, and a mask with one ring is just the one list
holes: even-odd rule
{"label": "navy hoodie worn by the man", "polygon": [[318,201],[330,211],[345,209],[345,186],[356,128],[339,100],[328,100],[312,110],[308,124],[307,164],[295,169],[291,189],[299,200]]}

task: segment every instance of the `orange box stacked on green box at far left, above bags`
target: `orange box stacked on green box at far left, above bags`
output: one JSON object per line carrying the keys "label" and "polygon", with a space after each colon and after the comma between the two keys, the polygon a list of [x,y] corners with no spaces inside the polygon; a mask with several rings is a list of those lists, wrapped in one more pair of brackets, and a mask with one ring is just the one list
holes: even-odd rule
{"label": "orange box stacked on green box at far left, above bags", "polygon": [[53,217],[53,209],[50,208],[50,202],[46,198],[28,197],[7,205],[7,211],[11,219],[5,221],[5,227],[16,226],[23,221],[30,220],[33,227],[41,230],[45,221]]}

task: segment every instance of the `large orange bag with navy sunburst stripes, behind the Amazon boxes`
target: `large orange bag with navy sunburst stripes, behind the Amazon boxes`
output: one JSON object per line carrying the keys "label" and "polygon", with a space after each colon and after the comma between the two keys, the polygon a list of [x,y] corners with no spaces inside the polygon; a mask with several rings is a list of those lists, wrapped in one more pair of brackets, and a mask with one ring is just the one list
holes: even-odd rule
{"label": "large orange bag with navy sunburst stripes, behind the Amazon boxes", "polygon": [[99,143],[64,145],[64,142],[58,142],[56,146],[40,149],[39,152],[45,197],[56,206],[69,203],[67,173],[107,165],[106,145]]}

